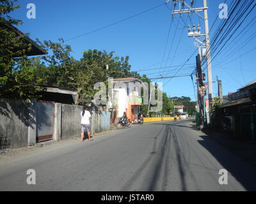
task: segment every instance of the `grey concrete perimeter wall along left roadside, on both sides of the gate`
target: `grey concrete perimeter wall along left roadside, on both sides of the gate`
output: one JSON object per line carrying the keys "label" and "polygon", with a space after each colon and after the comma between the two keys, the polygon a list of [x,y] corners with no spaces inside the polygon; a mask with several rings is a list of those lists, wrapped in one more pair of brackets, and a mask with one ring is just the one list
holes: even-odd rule
{"label": "grey concrete perimeter wall along left roadside, on both sides of the gate", "polygon": [[[38,120],[36,110],[38,108],[36,106],[38,103],[40,102],[35,99],[31,99],[31,103],[26,105],[21,100],[0,99],[0,137],[10,140],[10,148],[26,147],[36,143],[38,132],[36,129],[38,128],[36,125],[36,120]],[[80,136],[80,113],[82,110],[83,106],[55,103],[53,140]],[[45,114],[42,114],[42,110],[39,112],[39,115],[42,115],[41,121],[45,118]],[[110,112],[93,112],[90,123],[92,135],[108,130],[110,128]]]}

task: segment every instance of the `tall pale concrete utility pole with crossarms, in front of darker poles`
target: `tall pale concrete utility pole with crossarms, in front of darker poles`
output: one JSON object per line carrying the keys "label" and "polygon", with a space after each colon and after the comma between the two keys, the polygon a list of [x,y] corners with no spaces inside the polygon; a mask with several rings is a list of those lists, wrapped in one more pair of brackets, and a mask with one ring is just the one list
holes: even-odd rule
{"label": "tall pale concrete utility pole with crossarms, in front of darker poles", "polygon": [[[166,1],[166,4],[169,3],[171,0]],[[188,25],[188,36],[193,37],[196,41],[201,43],[205,48],[205,57],[207,58],[207,80],[208,80],[208,98],[209,98],[209,105],[211,105],[212,101],[212,69],[211,69],[211,51],[210,51],[210,38],[209,38],[209,22],[208,22],[208,7],[207,7],[207,0],[203,0],[204,7],[202,8],[191,8],[193,6],[194,1],[191,1],[191,6],[189,6],[185,0],[172,0],[174,2],[174,6],[177,5],[177,2],[179,2],[179,10],[173,10],[172,11],[172,17],[174,17],[175,14],[179,13],[180,17],[182,16],[182,13],[196,13],[200,18],[204,20],[205,24],[205,34],[201,34],[200,25],[197,26],[197,31],[195,25],[191,28],[190,25]],[[185,9],[184,7],[188,7]],[[204,17],[202,17],[198,12],[204,11]],[[191,31],[192,29],[192,31]],[[205,40],[200,40],[198,37],[205,37]],[[207,121],[209,123],[209,121]]]}

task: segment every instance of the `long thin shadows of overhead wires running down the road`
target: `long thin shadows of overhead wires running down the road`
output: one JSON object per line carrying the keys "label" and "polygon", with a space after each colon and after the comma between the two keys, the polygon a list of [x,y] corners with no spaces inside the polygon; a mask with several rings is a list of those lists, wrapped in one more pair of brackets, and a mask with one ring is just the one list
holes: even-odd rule
{"label": "long thin shadows of overhead wires running down the road", "polygon": [[[154,123],[157,124],[157,123]],[[157,184],[159,184],[159,180],[163,180],[161,183],[161,191],[166,191],[166,186],[168,185],[168,177],[170,171],[170,145],[171,140],[175,143],[175,153],[177,155],[177,161],[179,164],[179,174],[182,185],[182,191],[186,191],[186,182],[185,182],[185,173],[182,165],[182,154],[179,147],[179,142],[177,141],[177,137],[175,135],[174,129],[170,124],[164,124],[164,128],[161,128],[161,131],[154,137],[154,142],[152,146],[152,150],[150,151],[150,155],[147,159],[141,164],[140,168],[138,168],[134,175],[129,179],[129,181],[124,185],[122,191],[131,190],[132,185],[138,180],[141,175],[143,175],[143,171],[149,169],[150,175],[148,175],[147,187],[143,189],[143,191],[156,191]],[[188,127],[187,127],[188,128]],[[164,130],[164,132],[163,132]],[[157,145],[157,139],[159,139],[159,144]],[[148,168],[149,166],[149,168]],[[163,172],[163,178],[160,178],[161,172]],[[157,189],[160,190],[160,189]]]}

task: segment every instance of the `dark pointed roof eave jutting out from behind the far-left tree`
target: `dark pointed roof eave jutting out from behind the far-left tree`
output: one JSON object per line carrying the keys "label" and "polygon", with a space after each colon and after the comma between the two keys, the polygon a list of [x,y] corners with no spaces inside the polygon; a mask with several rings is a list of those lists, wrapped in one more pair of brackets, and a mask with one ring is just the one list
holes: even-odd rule
{"label": "dark pointed roof eave jutting out from behind the far-left tree", "polygon": [[[25,54],[28,56],[33,55],[45,55],[47,54],[47,51],[41,48],[35,41],[31,40],[28,36],[26,36],[24,33],[22,33],[19,29],[14,27],[13,25],[9,24],[6,20],[1,20],[0,25],[2,27],[6,27],[9,31],[15,31],[16,36],[22,36],[22,40],[26,43],[27,48],[29,47],[29,44],[31,44],[31,50],[26,50]],[[16,52],[18,50],[13,50],[13,52]],[[13,57],[20,57],[20,56],[13,56]]]}

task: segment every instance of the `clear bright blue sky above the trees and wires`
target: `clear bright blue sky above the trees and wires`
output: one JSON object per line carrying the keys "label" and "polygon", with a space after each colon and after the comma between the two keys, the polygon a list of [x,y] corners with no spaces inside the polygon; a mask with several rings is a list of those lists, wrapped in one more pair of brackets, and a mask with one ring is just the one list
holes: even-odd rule
{"label": "clear bright blue sky above the trees and wires", "polygon": [[[231,1],[227,1],[227,6]],[[83,51],[89,48],[115,51],[115,55],[119,57],[129,56],[131,71],[138,71],[140,75],[146,74],[148,78],[191,75],[196,66],[197,48],[194,45],[195,40],[188,37],[188,24],[200,23],[204,32],[204,22],[195,13],[189,17],[188,14],[184,14],[182,17],[175,15],[172,18],[173,2],[158,6],[164,2],[163,0],[18,0],[16,4],[19,4],[20,8],[9,15],[23,21],[18,29],[23,33],[29,33],[33,40],[38,38],[40,41],[58,41],[58,38],[63,38],[65,44],[71,45],[72,55],[78,60],[82,57]],[[210,28],[217,19],[210,32],[210,41],[214,38],[218,25],[227,20],[216,18],[221,11],[219,5],[224,2],[225,0],[207,1]],[[29,3],[36,6],[35,19],[27,18]],[[186,3],[189,4],[190,0]],[[155,6],[158,7],[86,34]],[[195,0],[193,8],[202,6],[203,0]],[[250,28],[248,32],[239,36],[220,55],[212,59],[214,96],[218,95],[216,76],[222,81],[223,95],[236,92],[256,78],[255,63],[253,63],[256,50],[252,50],[256,46],[256,39],[249,38],[255,33],[255,26],[246,27],[250,20],[255,19],[255,13],[253,10],[239,27],[241,31]],[[247,39],[249,41],[246,41]],[[250,50],[252,51],[249,52]],[[184,62],[186,64],[182,66]],[[196,100],[195,75],[193,82],[191,77],[162,78],[152,82],[163,82],[163,91],[170,97],[187,96],[193,101]]]}

